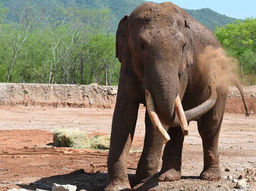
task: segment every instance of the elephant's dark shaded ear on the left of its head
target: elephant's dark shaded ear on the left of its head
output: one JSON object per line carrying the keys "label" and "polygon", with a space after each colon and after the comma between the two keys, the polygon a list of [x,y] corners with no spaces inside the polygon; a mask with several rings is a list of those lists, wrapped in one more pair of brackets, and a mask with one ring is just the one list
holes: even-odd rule
{"label": "elephant's dark shaded ear on the left of its head", "polygon": [[128,47],[128,31],[127,31],[127,19],[128,15],[125,15],[118,24],[118,29],[116,31],[116,43],[115,43],[115,55],[118,60],[125,64],[130,57],[130,50]]}

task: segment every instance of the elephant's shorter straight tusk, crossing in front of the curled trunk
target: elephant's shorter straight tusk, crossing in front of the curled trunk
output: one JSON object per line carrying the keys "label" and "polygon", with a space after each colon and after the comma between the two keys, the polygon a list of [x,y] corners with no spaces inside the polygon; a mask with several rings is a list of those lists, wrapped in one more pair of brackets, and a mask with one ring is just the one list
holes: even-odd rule
{"label": "elephant's shorter straight tusk, crossing in front of the curled trunk", "polygon": [[188,135],[188,122],[180,101],[180,97],[179,94],[177,96],[177,98],[175,99],[175,111],[176,114],[178,116],[179,122],[180,122],[180,126],[182,128],[183,134],[184,135]]}

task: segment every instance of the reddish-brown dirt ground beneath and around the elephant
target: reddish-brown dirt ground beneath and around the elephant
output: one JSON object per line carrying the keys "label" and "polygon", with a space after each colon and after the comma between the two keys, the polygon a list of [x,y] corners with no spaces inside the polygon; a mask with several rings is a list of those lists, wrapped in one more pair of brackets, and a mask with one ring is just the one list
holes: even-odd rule
{"label": "reddish-brown dirt ground beneath and around the elephant", "polygon": [[[251,102],[253,103],[254,100]],[[239,101],[232,103],[230,99],[228,101],[231,105],[238,105],[237,103]],[[113,109],[96,108],[1,106],[0,152],[53,152],[55,149],[51,148],[52,137],[56,128],[78,128],[86,130],[89,134],[110,134],[113,111]],[[136,167],[140,158],[145,135],[144,115],[145,109],[141,107],[127,166]],[[176,182],[161,182],[162,190],[184,188],[184,190],[233,191],[236,184],[227,176],[238,178],[242,172],[246,174],[247,185],[250,186],[248,190],[256,190],[255,120],[255,115],[246,118],[244,114],[225,114],[219,138],[220,168],[223,178],[218,182],[199,179],[203,168],[202,141],[196,122],[191,122],[189,135],[184,140],[182,179]],[[104,163],[106,156],[49,155],[45,158],[41,156],[46,155],[26,155],[23,158],[16,155],[0,155],[0,168],[10,170],[8,174],[0,175],[0,190],[11,188],[51,190],[44,185],[52,186],[53,183],[76,185],[77,190],[103,190],[107,181],[107,168],[93,168],[90,163],[94,161]],[[230,172],[226,172],[224,170],[226,168],[229,168]],[[135,171],[128,170],[128,173],[132,183]]]}

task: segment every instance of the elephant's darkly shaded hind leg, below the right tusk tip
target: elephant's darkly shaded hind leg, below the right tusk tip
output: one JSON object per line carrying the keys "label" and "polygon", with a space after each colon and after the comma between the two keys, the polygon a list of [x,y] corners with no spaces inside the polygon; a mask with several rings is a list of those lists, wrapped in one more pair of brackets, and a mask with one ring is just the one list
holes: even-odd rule
{"label": "elephant's darkly shaded hind leg, below the right tusk tip", "polygon": [[159,181],[176,181],[181,177],[181,157],[184,135],[182,129],[169,128],[170,141],[166,143],[163,154],[162,169],[158,173]]}

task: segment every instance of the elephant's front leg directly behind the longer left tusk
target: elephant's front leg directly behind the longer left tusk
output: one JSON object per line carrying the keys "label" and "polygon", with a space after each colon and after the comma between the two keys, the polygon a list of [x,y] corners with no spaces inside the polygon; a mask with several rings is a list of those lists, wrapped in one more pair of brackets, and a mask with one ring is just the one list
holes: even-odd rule
{"label": "elephant's front leg directly behind the longer left tusk", "polygon": [[163,141],[153,128],[146,110],[146,133],[141,158],[136,171],[136,183],[133,191],[159,191],[158,167],[162,153]]}

